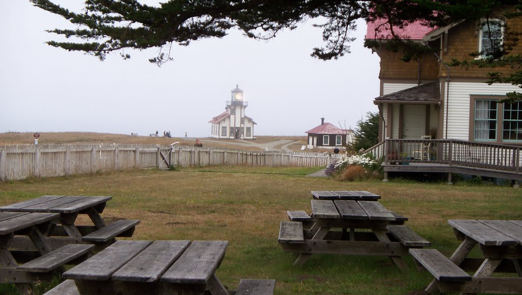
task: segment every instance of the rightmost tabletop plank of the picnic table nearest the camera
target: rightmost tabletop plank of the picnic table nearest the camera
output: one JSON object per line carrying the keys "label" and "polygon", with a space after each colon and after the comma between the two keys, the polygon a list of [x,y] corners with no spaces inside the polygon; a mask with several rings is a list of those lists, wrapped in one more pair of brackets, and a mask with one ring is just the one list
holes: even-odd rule
{"label": "rightmost tabletop plank of the picnic table nearest the camera", "polygon": [[216,271],[228,241],[194,241],[179,259],[161,276],[169,283],[206,285]]}

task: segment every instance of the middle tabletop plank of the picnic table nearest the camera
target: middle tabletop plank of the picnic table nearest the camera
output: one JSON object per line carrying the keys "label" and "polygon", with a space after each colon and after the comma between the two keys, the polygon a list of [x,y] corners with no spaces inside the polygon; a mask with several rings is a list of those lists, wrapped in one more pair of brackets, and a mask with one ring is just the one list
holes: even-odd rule
{"label": "middle tabletop plank of the picnic table nearest the camera", "polygon": [[113,281],[157,282],[190,244],[190,241],[155,241],[118,269],[111,279]]}

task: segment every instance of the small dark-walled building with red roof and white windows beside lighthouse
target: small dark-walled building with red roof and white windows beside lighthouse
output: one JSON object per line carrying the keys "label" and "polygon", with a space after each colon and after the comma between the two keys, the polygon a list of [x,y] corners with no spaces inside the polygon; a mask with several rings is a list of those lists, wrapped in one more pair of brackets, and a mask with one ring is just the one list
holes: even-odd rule
{"label": "small dark-walled building with red roof and white windows beside lighthouse", "polygon": [[308,134],[309,149],[333,149],[335,146],[342,148],[347,143],[351,143],[352,130],[341,129],[334,124],[325,122],[325,118],[321,118],[321,125],[316,126],[305,133]]}

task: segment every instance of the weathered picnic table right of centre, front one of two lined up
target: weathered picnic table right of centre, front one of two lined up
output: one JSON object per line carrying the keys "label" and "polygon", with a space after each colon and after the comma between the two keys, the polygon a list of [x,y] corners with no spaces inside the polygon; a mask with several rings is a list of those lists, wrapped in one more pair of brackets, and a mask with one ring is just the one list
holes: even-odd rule
{"label": "weathered picnic table right of centre, front one of two lined up", "polygon": [[401,256],[408,256],[409,248],[431,245],[406,225],[392,224],[398,219],[396,214],[379,202],[312,199],[311,204],[313,225],[309,230],[304,230],[300,221],[281,221],[279,243],[283,251],[300,254],[296,266],[316,253],[383,255],[406,270]]}

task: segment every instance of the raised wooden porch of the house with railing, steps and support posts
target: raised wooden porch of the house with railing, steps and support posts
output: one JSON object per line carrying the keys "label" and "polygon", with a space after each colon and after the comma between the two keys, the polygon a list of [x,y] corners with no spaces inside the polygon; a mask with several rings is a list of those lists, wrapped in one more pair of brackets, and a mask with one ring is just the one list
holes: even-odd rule
{"label": "raised wooden porch of the house with railing, steps and support posts", "polygon": [[464,140],[386,139],[366,153],[384,158],[384,180],[389,172],[452,173],[522,180],[522,147]]}

